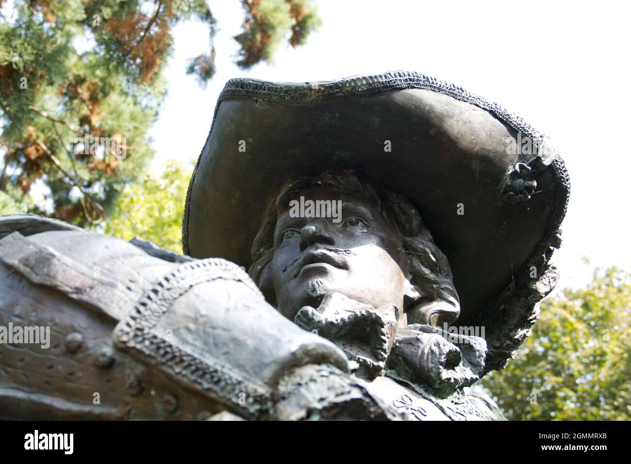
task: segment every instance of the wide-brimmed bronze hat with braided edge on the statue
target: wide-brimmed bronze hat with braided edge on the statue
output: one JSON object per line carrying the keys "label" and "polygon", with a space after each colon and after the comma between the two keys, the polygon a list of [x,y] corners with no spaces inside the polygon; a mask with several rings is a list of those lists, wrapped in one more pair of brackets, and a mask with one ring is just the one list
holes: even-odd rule
{"label": "wide-brimmed bronze hat with braided edge on the statue", "polygon": [[[286,181],[346,169],[418,207],[451,265],[456,325],[490,323],[487,339],[497,344],[519,339],[497,355],[510,356],[555,282],[548,258],[567,171],[522,119],[424,74],[228,81],[189,185],[184,253],[249,267],[262,215]],[[507,294],[526,309],[511,314],[499,303]]]}

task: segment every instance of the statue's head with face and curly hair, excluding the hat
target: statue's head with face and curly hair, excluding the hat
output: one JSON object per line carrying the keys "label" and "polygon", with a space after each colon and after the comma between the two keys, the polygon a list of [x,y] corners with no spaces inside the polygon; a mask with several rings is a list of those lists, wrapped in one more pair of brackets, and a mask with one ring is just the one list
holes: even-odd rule
{"label": "statue's head with face and curly hair, excluding the hat", "polygon": [[264,217],[250,274],[287,318],[331,293],[375,309],[392,304],[399,323],[459,315],[447,259],[403,196],[329,171],[286,182]]}

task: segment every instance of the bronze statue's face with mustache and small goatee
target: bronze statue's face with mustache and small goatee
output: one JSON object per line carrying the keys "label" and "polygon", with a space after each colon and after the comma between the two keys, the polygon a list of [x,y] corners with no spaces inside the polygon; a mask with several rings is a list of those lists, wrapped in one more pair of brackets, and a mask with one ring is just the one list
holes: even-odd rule
{"label": "bronze statue's face with mustache and small goatee", "polygon": [[403,310],[407,261],[392,221],[356,195],[324,187],[300,195],[305,203],[341,200],[341,217],[292,217],[289,204],[280,212],[270,263],[278,310],[293,320],[302,306],[317,308],[334,292]]}

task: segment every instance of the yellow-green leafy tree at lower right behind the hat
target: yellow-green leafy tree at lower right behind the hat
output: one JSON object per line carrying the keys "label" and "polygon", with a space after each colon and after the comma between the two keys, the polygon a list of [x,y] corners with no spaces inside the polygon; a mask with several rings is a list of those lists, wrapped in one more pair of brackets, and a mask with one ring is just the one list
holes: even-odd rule
{"label": "yellow-green leafy tree at lower right behind the hat", "polygon": [[596,269],[541,304],[533,335],[482,380],[513,420],[631,419],[631,275]]}

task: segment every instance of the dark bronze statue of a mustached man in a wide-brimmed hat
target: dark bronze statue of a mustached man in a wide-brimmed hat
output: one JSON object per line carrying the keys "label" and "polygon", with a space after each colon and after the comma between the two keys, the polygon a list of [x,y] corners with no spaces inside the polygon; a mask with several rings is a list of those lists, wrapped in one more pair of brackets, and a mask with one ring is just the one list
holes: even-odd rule
{"label": "dark bronze statue of a mustached man in a wide-brimmed hat", "polygon": [[233,79],[184,255],[0,218],[0,326],[52,339],[0,344],[0,417],[504,419],[468,387],[555,286],[568,197],[546,137],[423,74]]}

